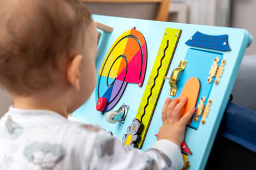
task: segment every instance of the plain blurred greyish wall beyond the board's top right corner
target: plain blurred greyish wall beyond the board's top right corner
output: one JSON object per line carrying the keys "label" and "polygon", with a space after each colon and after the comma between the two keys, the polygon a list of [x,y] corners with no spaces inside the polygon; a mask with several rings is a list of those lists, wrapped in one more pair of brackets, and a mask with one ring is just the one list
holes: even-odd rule
{"label": "plain blurred greyish wall beyond the board's top right corner", "polygon": [[256,54],[256,1],[232,0],[232,27],[244,28],[252,34],[252,45],[246,49],[246,55]]}

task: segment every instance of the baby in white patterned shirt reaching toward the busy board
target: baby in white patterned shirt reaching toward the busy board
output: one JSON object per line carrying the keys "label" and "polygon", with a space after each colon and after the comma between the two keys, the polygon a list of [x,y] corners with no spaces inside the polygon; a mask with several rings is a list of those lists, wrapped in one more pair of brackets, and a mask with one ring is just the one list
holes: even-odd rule
{"label": "baby in white patterned shirt reaching toward the busy board", "polygon": [[[147,151],[67,120],[96,85],[97,29],[79,0],[0,0],[0,84],[13,106],[0,120],[0,169],[180,169],[195,108],[166,99]],[[84,113],[93,114],[93,113]]]}

